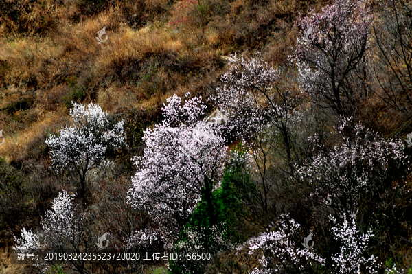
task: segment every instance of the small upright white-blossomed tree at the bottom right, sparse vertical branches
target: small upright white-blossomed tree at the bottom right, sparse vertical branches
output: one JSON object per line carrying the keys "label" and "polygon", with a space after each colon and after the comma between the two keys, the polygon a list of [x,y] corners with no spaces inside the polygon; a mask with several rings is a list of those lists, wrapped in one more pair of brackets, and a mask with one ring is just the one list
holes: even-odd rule
{"label": "small upright white-blossomed tree at the bottom right, sparse vertical branches", "polygon": [[366,273],[378,273],[378,263],[374,255],[369,258],[367,254],[367,245],[369,238],[373,237],[371,229],[361,233],[357,227],[354,216],[343,214],[343,222],[336,221],[336,218],[330,216],[334,222],[332,233],[334,240],[341,242],[340,251],[332,255],[333,269],[335,273],[361,274],[362,270]]}

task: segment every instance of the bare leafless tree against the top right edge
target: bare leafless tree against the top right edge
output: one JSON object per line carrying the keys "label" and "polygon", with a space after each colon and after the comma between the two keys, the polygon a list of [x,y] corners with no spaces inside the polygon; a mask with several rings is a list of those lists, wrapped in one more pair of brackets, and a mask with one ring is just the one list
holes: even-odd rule
{"label": "bare leafless tree against the top right edge", "polygon": [[374,25],[374,74],[378,95],[403,113],[412,107],[412,6],[408,1],[384,1]]}

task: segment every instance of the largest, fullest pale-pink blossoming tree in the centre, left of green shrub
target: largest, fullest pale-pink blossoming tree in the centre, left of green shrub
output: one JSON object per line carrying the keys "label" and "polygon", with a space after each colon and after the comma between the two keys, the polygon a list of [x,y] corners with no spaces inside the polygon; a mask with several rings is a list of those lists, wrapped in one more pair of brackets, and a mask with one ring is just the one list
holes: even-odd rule
{"label": "largest, fullest pale-pink blossoming tree in the centre, left of green shrub", "polygon": [[211,222],[215,218],[211,197],[220,184],[227,148],[213,124],[201,120],[204,111],[201,98],[185,104],[176,95],[169,98],[163,122],[144,132],[144,156],[134,159],[139,170],[132,179],[130,203],[148,212],[168,248],[201,198]]}

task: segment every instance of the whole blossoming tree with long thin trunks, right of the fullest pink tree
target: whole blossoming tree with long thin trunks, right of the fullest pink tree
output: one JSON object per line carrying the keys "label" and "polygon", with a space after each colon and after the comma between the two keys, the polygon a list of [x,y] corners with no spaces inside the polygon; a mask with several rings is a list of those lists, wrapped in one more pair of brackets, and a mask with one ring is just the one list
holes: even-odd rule
{"label": "whole blossoming tree with long thin trunks, right of the fullest pink tree", "polygon": [[[259,56],[233,56],[217,88],[216,106],[227,124],[219,128],[227,139],[244,139],[251,152],[251,181],[245,203],[251,221],[266,226],[277,216],[279,188],[290,185],[295,161],[296,128],[301,122],[304,94],[290,82],[292,70],[274,69]],[[282,185],[284,183],[284,185]]]}

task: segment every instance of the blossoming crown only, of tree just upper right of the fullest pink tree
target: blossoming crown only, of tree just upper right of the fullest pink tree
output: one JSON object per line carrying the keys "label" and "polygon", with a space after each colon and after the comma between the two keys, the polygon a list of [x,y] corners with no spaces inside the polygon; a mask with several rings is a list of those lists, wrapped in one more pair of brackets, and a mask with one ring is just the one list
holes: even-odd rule
{"label": "blossoming crown only, of tree just upper right of the fullest pink tree", "polygon": [[229,121],[227,134],[244,138],[267,124],[273,113],[282,111],[273,94],[279,73],[256,58],[233,56],[231,63],[220,78],[222,86],[217,88],[216,106]]}

